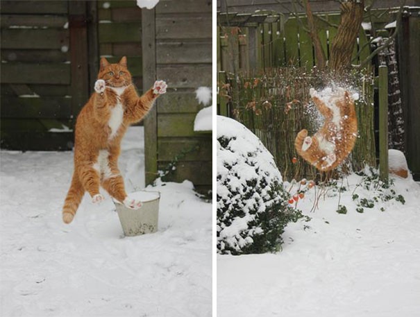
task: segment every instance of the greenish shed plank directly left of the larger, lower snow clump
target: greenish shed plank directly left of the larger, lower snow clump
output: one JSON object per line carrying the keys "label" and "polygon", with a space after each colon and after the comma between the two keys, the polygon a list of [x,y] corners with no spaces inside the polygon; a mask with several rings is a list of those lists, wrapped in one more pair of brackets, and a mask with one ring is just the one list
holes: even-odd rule
{"label": "greenish shed plank directly left of the larger, lower snow clump", "polygon": [[195,113],[159,114],[158,137],[192,137]]}

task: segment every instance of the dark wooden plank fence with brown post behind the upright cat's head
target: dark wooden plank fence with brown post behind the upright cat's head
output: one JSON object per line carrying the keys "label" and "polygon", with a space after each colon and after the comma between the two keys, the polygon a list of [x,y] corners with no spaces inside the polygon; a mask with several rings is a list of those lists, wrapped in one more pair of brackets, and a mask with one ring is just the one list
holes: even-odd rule
{"label": "dark wooden plank fence with brown post behind the upright cat's head", "polygon": [[142,92],[135,1],[1,1],[1,147],[69,150],[99,58],[128,58]]}

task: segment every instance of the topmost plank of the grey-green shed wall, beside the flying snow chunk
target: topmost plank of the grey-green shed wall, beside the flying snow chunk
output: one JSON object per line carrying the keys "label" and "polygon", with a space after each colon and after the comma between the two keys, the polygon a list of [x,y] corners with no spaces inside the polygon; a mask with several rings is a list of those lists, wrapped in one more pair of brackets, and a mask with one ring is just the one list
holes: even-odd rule
{"label": "topmost plank of the grey-green shed wall, beside the flying snow chunk", "polygon": [[211,0],[163,0],[160,1],[156,6],[156,13],[167,14],[167,13],[199,13],[199,12],[212,12],[212,1]]}

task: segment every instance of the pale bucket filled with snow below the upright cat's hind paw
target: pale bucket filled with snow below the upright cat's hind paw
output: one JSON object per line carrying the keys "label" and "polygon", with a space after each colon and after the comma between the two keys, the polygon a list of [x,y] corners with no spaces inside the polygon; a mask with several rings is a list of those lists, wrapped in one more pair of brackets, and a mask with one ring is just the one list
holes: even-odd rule
{"label": "pale bucket filled with snow below the upright cat's hind paw", "polygon": [[134,210],[114,200],[124,234],[132,237],[158,231],[160,193],[158,191],[135,191],[128,196],[142,201],[142,207]]}

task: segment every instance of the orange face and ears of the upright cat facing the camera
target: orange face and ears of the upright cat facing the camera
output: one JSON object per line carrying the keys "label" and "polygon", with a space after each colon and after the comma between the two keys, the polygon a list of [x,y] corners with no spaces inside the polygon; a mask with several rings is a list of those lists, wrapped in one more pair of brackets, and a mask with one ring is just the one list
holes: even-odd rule
{"label": "orange face and ears of the upright cat facing the camera", "polygon": [[110,87],[130,85],[131,74],[127,69],[127,58],[124,56],[117,64],[110,64],[106,58],[101,58],[98,79],[105,80],[106,85]]}

